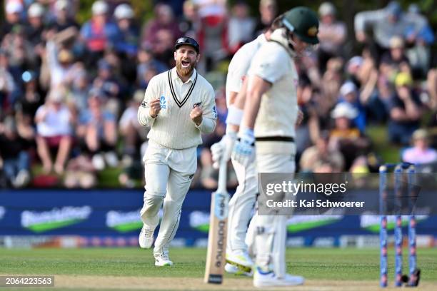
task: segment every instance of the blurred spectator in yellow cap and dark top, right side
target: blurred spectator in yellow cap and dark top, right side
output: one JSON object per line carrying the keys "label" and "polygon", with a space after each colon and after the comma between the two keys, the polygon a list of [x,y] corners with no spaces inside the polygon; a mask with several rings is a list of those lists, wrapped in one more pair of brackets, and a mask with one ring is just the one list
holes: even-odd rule
{"label": "blurred spectator in yellow cap and dark top, right side", "polygon": [[396,92],[390,99],[388,137],[392,143],[408,145],[411,135],[418,129],[423,112],[421,100],[412,90],[413,80],[408,73],[398,73]]}

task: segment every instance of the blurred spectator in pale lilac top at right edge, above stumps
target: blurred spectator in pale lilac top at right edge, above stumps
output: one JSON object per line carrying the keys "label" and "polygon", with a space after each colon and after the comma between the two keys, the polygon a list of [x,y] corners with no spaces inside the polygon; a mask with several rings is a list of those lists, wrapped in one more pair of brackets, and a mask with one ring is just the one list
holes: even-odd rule
{"label": "blurred spectator in pale lilac top at right edge, above stumps", "polygon": [[413,147],[403,150],[402,160],[413,164],[437,162],[437,150],[429,147],[428,133],[424,129],[414,131]]}

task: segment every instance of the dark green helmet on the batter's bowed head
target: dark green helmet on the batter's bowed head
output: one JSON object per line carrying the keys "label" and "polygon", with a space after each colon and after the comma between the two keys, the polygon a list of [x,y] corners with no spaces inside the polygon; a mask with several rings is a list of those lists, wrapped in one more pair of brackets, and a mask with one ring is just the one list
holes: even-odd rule
{"label": "dark green helmet on the batter's bowed head", "polygon": [[301,41],[308,44],[318,44],[318,19],[316,12],[304,6],[288,10],[282,19],[282,24]]}

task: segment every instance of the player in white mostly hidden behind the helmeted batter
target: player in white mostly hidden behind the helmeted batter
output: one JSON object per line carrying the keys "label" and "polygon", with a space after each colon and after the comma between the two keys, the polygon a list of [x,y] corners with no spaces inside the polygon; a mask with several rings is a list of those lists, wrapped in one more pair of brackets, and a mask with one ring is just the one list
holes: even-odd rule
{"label": "player in white mostly hidden behind the helmeted batter", "polygon": [[[281,17],[273,21],[271,27],[256,39],[242,46],[235,53],[228,66],[226,76],[226,104],[228,116],[226,118],[226,134],[221,141],[211,146],[214,166],[217,168],[220,160],[228,161],[231,158],[233,145],[237,138],[238,128],[243,117],[243,105],[246,98],[246,90],[243,90],[243,81],[246,78],[248,68],[256,51],[265,43],[273,30],[278,28]],[[245,82],[246,86],[246,82]],[[236,104],[236,100],[238,103]],[[243,266],[246,272],[244,275],[251,275],[253,261],[248,253],[246,242],[253,240],[251,231],[247,225],[251,219],[253,205],[256,200],[257,178],[255,161],[247,167],[232,159],[232,165],[236,171],[238,187],[229,201],[228,213],[228,238],[226,243],[226,272],[241,272],[238,266]],[[253,225],[253,221],[251,221]],[[246,236],[247,233],[247,236]]]}

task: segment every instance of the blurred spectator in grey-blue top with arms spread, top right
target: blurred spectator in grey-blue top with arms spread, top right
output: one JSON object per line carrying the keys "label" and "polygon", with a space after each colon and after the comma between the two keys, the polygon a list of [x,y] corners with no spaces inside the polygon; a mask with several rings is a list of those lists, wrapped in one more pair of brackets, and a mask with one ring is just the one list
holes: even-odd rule
{"label": "blurred spectator in grey-blue top with arms spread, top right", "polygon": [[[408,18],[406,14],[403,14],[398,2],[391,1],[384,9],[363,11],[356,14],[356,39],[359,42],[368,41],[373,57],[379,62],[382,53],[390,48],[391,38],[404,36],[411,24],[414,27],[422,25],[420,20]],[[368,26],[373,31],[374,39],[368,39],[366,35]]]}

